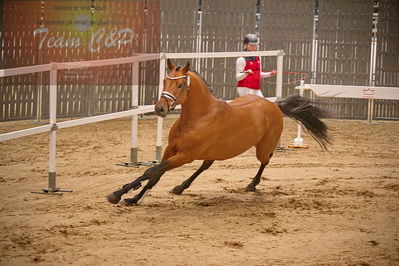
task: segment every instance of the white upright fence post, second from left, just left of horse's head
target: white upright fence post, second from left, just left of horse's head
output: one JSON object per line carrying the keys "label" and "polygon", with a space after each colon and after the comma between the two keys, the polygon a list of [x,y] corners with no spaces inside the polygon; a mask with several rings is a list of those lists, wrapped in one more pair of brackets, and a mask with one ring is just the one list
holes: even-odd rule
{"label": "white upright fence post, second from left, just left of horse's head", "polygon": [[[132,109],[137,109],[139,106],[139,62],[132,63]],[[131,126],[131,148],[130,148],[130,163],[137,165],[137,134],[138,134],[138,115],[132,116]]]}

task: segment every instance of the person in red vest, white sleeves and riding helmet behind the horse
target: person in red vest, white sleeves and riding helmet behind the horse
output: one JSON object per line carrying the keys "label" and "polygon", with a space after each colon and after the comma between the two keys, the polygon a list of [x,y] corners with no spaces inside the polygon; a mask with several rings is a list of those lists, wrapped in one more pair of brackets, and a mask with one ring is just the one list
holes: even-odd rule
{"label": "person in red vest, white sleeves and riding helmet behind the horse", "polygon": [[[247,34],[244,38],[244,51],[257,51],[259,40],[255,34]],[[237,92],[239,96],[255,94],[263,98],[260,90],[260,79],[272,77],[276,70],[262,72],[259,56],[240,57],[236,61]]]}

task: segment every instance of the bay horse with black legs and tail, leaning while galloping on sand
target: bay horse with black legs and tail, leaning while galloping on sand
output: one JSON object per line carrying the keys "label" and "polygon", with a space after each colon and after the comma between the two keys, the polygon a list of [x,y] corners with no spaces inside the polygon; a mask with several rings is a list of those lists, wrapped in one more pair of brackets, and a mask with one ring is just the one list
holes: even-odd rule
{"label": "bay horse with black legs and tail, leaning while galloping on sand", "polygon": [[181,194],[215,160],[235,157],[253,146],[260,167],[246,191],[255,191],[283,131],[283,113],[302,123],[323,149],[330,144],[328,127],[320,120],[324,112],[306,98],[294,95],[276,104],[255,95],[245,95],[226,103],[212,94],[195,71],[190,71],[189,63],[176,68],[168,59],[167,68],[155,112],[166,117],[180,104],[181,114],[169,132],[162,160],[133,182],[109,194],[110,203],[118,203],[123,194],[137,190],[141,182],[148,180],[136,196],[124,199],[125,205],[138,204],[166,171],[203,160],[190,178],[171,191]]}

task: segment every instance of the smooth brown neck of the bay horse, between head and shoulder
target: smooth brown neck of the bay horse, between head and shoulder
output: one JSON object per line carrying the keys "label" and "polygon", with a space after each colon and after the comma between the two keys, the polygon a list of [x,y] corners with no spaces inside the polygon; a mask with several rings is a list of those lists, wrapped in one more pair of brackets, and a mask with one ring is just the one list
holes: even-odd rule
{"label": "smooth brown neck of the bay horse, between head and shoulder", "polygon": [[182,104],[181,119],[193,120],[200,118],[209,113],[217,104],[217,99],[199,77],[191,79],[190,91],[186,101]]}

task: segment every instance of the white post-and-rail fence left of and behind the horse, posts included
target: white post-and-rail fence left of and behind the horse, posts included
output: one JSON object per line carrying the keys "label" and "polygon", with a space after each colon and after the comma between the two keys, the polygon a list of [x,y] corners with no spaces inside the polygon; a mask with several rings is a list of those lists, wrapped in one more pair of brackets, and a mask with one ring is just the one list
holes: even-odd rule
{"label": "white post-and-rail fence left of and behind the horse, posts included", "polygon": [[[15,132],[5,133],[0,135],[0,141],[6,141],[10,139],[31,136],[34,134],[40,134],[49,132],[49,177],[48,177],[48,188],[43,189],[42,193],[46,194],[59,194],[62,192],[57,187],[56,183],[56,132],[57,129],[63,129],[73,126],[79,126],[89,123],[95,123],[100,121],[107,121],[122,117],[132,117],[131,120],[131,164],[137,164],[137,127],[138,127],[138,115],[145,114],[154,111],[154,106],[138,106],[138,73],[139,73],[139,62],[160,60],[159,69],[159,94],[162,92],[163,78],[165,77],[166,70],[166,59],[177,59],[177,58],[226,58],[226,57],[240,57],[240,56],[277,56],[277,84],[276,84],[276,97],[282,96],[282,75],[283,75],[283,56],[282,50],[276,51],[257,51],[257,52],[216,52],[216,53],[161,53],[161,54],[142,54],[132,57],[105,59],[105,60],[93,60],[93,61],[81,61],[81,62],[64,62],[64,63],[50,63],[45,65],[28,66],[20,68],[2,69],[0,70],[0,78],[50,71],[50,121],[48,125],[39,126],[35,128],[19,130]],[[87,67],[99,67],[99,66],[110,66],[119,64],[132,64],[132,109],[117,113],[98,115],[93,117],[87,117],[82,119],[76,119],[65,122],[57,123],[57,70],[61,69],[73,69],[73,68],[87,68]],[[157,126],[157,142],[156,142],[156,160],[161,160],[162,156],[162,127],[163,120],[158,118]]]}

